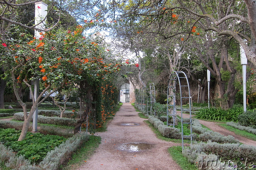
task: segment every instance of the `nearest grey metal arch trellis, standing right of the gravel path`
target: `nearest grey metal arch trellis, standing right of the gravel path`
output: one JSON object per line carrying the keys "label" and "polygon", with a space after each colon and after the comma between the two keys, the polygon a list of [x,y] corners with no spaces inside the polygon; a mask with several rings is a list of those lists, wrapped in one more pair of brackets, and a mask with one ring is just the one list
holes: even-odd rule
{"label": "nearest grey metal arch trellis, standing right of the gravel path", "polygon": [[[184,81],[185,79],[185,81]],[[183,80],[183,81],[181,81]],[[190,97],[190,88],[188,83],[187,75],[183,71],[174,71],[174,73],[171,74],[168,82],[168,89],[167,89],[167,126],[172,125],[175,127],[175,124],[177,123],[177,111],[176,111],[176,84],[177,81],[179,83],[180,87],[180,111],[181,111],[181,139],[182,139],[182,152],[184,149],[184,137],[190,137],[190,141],[192,144],[192,118],[191,118],[191,97]],[[181,85],[181,83],[184,83],[184,85]],[[187,89],[188,94],[186,94],[182,89]],[[182,105],[186,99],[188,99],[189,109],[183,109]],[[172,113],[171,113],[172,110]],[[189,111],[189,122],[183,122],[182,113],[184,111]],[[172,116],[173,122],[169,123],[168,119],[169,116]],[[190,125],[190,135],[183,135],[183,124],[189,124]]]}

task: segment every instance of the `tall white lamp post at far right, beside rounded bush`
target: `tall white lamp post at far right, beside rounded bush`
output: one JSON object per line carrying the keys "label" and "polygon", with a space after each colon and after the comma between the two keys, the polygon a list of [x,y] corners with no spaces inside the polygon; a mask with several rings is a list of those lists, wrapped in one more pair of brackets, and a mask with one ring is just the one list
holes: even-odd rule
{"label": "tall white lamp post at far right, beside rounded bush", "polygon": [[247,65],[247,58],[244,53],[244,48],[240,45],[240,59],[241,65],[243,68],[243,106],[244,112],[246,112],[246,65]]}

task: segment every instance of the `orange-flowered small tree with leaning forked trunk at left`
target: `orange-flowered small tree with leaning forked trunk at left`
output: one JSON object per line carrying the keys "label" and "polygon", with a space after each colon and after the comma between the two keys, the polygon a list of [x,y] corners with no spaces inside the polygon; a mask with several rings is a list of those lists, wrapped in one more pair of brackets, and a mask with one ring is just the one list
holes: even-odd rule
{"label": "orange-flowered small tree with leaning forked trunk at left", "polygon": [[[1,64],[9,68],[5,76],[12,77],[14,93],[24,111],[25,122],[19,140],[25,138],[36,107],[52,93],[81,81],[95,86],[107,74],[119,69],[116,63],[104,63],[106,50],[96,40],[83,37],[83,30],[83,26],[77,26],[74,32],[52,30],[28,42],[6,39],[2,44],[5,58]],[[31,82],[35,79],[39,79],[44,87],[39,97],[33,99],[27,115],[27,106],[19,96],[17,83],[26,84],[32,93]],[[40,100],[47,91],[50,92]]]}

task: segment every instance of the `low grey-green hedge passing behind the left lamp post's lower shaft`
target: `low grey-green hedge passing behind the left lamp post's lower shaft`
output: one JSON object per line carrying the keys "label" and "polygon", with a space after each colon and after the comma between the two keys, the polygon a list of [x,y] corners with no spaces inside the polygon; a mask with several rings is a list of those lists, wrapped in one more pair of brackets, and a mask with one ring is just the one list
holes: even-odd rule
{"label": "low grey-green hedge passing behind the left lamp post's lower shaft", "polygon": [[[23,112],[15,113],[14,117],[15,120],[24,121],[24,114]],[[33,117],[31,118],[31,121]],[[45,123],[45,124],[55,124],[55,125],[62,125],[62,126],[76,126],[76,120],[64,117],[48,117],[38,115],[37,119],[38,123]]]}

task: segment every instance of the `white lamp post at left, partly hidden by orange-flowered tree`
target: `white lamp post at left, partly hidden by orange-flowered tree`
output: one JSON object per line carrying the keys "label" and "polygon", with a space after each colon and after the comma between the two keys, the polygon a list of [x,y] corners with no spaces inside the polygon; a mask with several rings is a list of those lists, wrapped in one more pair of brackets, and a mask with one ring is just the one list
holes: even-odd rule
{"label": "white lamp post at left, partly hidden by orange-flowered tree", "polygon": [[[35,25],[37,25],[37,28],[42,28],[44,29],[44,21],[41,22],[45,16],[47,15],[47,8],[48,5],[44,4],[43,2],[36,2],[35,3]],[[40,37],[40,32],[35,30],[35,37],[36,39],[39,39]],[[39,93],[39,79],[36,78],[34,80],[34,99],[36,100],[38,98],[38,93]],[[38,107],[36,107],[36,110],[33,114],[33,126],[32,126],[32,132],[37,132],[37,117],[38,117]]]}

